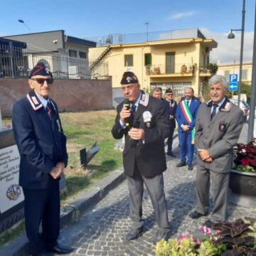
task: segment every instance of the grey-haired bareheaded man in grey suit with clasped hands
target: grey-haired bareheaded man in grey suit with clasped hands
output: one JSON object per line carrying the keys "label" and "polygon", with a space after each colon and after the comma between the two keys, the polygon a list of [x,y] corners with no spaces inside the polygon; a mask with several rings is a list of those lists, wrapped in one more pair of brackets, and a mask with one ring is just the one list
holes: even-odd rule
{"label": "grey-haired bareheaded man in grey suit with clasped hands", "polygon": [[196,171],[196,210],[193,219],[208,215],[210,182],[213,187],[213,210],[205,225],[209,228],[226,219],[228,183],[233,161],[233,146],[242,129],[243,113],[228,97],[222,75],[209,80],[211,100],[202,103],[196,118],[195,142],[198,147]]}

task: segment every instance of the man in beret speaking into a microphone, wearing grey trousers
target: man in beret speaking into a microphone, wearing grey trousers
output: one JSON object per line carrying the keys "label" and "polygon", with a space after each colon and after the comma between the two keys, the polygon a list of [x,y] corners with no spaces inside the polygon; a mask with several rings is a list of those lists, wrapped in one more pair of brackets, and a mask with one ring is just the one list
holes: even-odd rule
{"label": "man in beret speaking into a microphone, wearing grey trousers", "polygon": [[154,208],[159,230],[154,243],[167,240],[170,224],[164,196],[163,171],[166,170],[164,139],[169,135],[164,105],[160,100],[139,89],[139,81],[132,72],[125,72],[122,92],[127,103],[117,106],[117,117],[112,128],[115,139],[125,136],[123,152],[124,173],[127,174],[130,195],[132,230],[127,240],[139,238],[144,231],[142,219],[142,197],[144,183]]}

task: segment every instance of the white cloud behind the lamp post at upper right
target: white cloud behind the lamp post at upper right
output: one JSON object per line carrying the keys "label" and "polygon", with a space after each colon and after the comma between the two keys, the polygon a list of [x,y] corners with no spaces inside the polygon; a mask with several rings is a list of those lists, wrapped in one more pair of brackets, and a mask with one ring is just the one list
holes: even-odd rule
{"label": "white cloud behind the lamp post at upper right", "polygon": [[[234,39],[228,39],[228,33],[217,33],[209,31],[208,28],[200,28],[206,38],[213,39],[218,43],[218,47],[210,52],[212,62],[220,64],[224,63],[239,63],[240,62],[240,44],[241,33],[235,33]],[[243,58],[242,62],[252,62],[254,32],[245,32]]]}

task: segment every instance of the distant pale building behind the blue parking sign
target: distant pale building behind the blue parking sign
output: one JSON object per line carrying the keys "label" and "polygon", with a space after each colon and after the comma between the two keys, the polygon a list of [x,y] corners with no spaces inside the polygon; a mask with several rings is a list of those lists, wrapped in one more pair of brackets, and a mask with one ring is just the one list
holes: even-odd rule
{"label": "distant pale building behind the blue parking sign", "polygon": [[[224,75],[229,80],[229,75],[238,74],[239,79],[239,63],[218,65],[218,75]],[[252,63],[242,63],[242,82],[250,85],[252,83]]]}

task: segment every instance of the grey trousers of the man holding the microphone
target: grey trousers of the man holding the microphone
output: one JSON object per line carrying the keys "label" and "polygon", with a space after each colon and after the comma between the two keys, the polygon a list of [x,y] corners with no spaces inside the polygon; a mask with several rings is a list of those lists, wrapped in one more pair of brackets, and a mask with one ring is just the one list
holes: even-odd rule
{"label": "grey trousers of the man holding the microphone", "polygon": [[163,174],[154,176],[153,178],[146,178],[142,176],[139,171],[135,171],[134,173],[133,177],[127,178],[129,187],[130,217],[133,220],[132,228],[141,228],[144,223],[144,220],[142,219],[142,198],[145,183],[146,188],[149,191],[159,230],[169,232],[171,227],[168,220],[166,199],[164,196]]}

